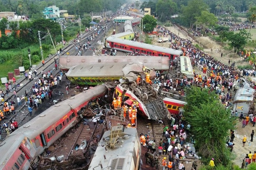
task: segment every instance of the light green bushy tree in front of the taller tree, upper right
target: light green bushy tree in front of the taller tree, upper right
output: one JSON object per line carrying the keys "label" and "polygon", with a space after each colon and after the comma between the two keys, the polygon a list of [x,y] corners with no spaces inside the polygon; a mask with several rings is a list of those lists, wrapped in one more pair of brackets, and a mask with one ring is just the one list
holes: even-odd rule
{"label": "light green bushy tree in front of the taller tree, upper right", "polygon": [[217,17],[215,17],[214,14],[209,13],[208,11],[202,11],[201,15],[198,17],[195,17],[196,24],[204,26],[214,26],[216,25],[216,22],[218,22]]}

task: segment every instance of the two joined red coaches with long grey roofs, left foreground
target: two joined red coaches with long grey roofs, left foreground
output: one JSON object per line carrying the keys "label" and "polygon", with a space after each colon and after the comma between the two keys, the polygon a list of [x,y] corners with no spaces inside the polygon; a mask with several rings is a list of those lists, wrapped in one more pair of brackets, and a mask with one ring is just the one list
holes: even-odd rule
{"label": "two joined red coaches with long grey roofs, left foreground", "polygon": [[78,122],[79,111],[89,101],[104,97],[100,85],[51,106],[10,134],[0,145],[1,170],[28,170],[33,159]]}

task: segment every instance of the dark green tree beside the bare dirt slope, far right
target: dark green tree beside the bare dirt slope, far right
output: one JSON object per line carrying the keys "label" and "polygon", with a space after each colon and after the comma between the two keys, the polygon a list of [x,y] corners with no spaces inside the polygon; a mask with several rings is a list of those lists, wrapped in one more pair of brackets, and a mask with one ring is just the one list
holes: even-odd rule
{"label": "dark green tree beside the bare dirt slope, far right", "polygon": [[234,48],[234,52],[243,49],[248,40],[252,39],[252,34],[247,32],[245,29],[240,30],[239,33],[226,32],[226,38],[230,42],[229,45]]}

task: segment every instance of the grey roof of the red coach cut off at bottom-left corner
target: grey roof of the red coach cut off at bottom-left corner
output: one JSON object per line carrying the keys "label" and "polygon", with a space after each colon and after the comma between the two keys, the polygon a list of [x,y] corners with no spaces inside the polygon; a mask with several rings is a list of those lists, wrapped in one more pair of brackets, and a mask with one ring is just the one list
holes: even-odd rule
{"label": "grey roof of the red coach cut off at bottom-left corner", "polygon": [[18,149],[21,142],[25,138],[25,135],[13,135],[13,133],[11,133],[9,137],[6,137],[6,139],[4,139],[4,141],[0,144],[0,169],[3,169],[4,165],[9,159],[11,159],[14,152]]}

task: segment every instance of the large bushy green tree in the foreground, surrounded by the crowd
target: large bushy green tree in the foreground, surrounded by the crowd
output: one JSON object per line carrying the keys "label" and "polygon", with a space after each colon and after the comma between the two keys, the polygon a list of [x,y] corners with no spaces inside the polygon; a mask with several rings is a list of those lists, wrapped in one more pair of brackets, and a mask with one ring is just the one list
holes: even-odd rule
{"label": "large bushy green tree in the foreground, surrounded by the crowd", "polygon": [[219,102],[218,96],[209,89],[192,87],[186,91],[184,118],[191,125],[195,147],[204,160],[212,157],[222,160],[224,165],[231,161],[225,143],[229,130],[235,128],[230,111]]}

